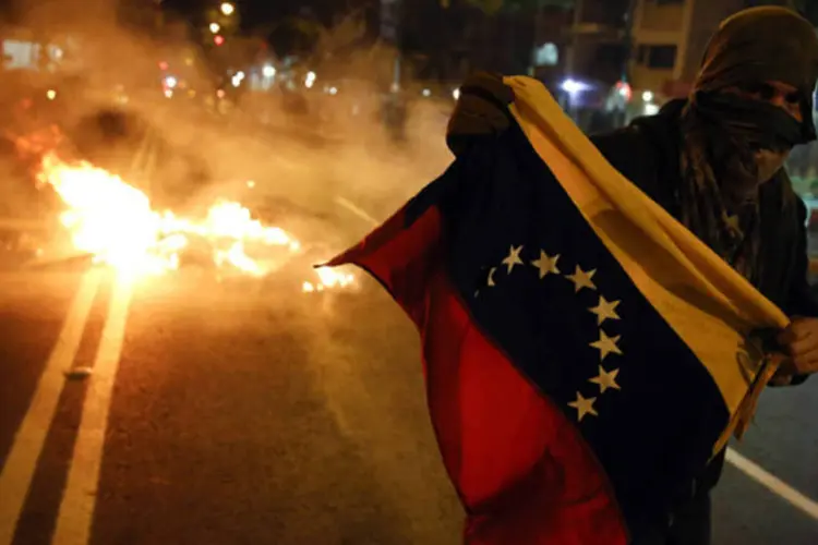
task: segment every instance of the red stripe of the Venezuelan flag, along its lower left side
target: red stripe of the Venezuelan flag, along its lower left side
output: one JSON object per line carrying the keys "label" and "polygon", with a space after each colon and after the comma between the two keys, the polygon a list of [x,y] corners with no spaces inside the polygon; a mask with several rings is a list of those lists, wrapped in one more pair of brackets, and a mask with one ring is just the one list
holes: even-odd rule
{"label": "red stripe of the Venezuelan flag, along its lower left side", "polygon": [[332,263],[366,268],[420,329],[432,424],[468,513],[465,543],[627,543],[577,427],[478,329],[448,280],[438,210],[404,226],[401,210]]}

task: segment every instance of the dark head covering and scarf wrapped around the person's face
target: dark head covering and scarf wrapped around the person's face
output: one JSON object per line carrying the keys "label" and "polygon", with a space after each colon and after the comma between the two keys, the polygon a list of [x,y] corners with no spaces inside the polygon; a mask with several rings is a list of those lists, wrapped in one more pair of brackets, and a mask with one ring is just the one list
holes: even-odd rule
{"label": "dark head covering and scarf wrapped around the person's face", "polygon": [[[727,17],[711,37],[682,113],[683,221],[757,286],[762,264],[755,154],[816,138],[817,77],[818,36],[809,22],[785,8],[750,8]],[[724,93],[767,82],[798,90],[803,121],[778,106]],[[792,194],[789,180],[780,185]]]}

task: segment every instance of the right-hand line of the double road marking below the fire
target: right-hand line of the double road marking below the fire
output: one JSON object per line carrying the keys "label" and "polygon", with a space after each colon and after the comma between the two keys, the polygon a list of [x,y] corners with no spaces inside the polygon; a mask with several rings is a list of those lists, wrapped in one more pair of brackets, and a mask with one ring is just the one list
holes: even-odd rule
{"label": "right-hand line of the double road marking below the fire", "polygon": [[94,361],[94,374],[89,377],[85,393],[68,482],[62,494],[57,528],[51,538],[51,543],[56,545],[85,545],[91,538],[108,412],[119,370],[132,292],[133,283],[118,276],[111,294],[108,319]]}

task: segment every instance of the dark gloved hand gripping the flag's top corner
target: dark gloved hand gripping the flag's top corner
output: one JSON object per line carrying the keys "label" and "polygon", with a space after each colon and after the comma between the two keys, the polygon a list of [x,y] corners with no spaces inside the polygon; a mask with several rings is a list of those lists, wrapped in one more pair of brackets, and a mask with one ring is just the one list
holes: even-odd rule
{"label": "dark gloved hand gripping the flag's top corner", "polygon": [[457,156],[476,141],[508,129],[508,105],[513,101],[514,92],[503,83],[502,75],[476,72],[467,77],[446,130],[446,145],[452,153]]}

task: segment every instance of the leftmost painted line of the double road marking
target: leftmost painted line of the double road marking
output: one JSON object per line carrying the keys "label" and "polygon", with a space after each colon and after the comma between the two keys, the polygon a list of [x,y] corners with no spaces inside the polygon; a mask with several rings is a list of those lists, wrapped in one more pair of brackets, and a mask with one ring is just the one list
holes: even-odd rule
{"label": "leftmost painted line of the double road marking", "polygon": [[65,383],[63,372],[76,358],[100,280],[99,270],[83,277],[0,473],[0,545],[10,544],[14,538],[17,519]]}

